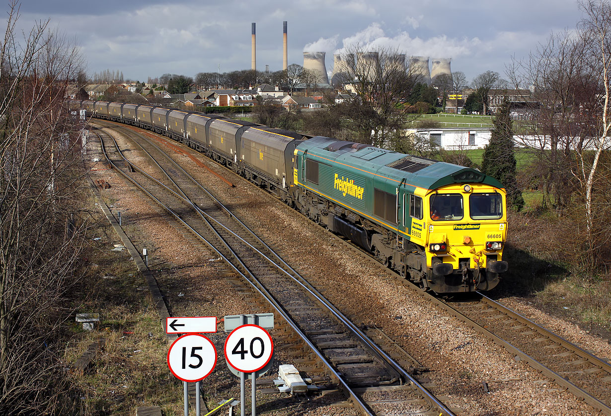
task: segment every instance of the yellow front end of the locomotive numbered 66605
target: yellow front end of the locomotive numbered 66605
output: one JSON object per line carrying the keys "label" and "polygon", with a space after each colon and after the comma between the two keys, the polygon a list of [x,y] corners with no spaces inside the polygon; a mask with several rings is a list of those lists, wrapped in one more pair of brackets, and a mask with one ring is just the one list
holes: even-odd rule
{"label": "yellow front end of the locomotive numbered 66605", "polygon": [[507,271],[505,190],[451,184],[423,195],[426,265],[431,289],[490,290]]}

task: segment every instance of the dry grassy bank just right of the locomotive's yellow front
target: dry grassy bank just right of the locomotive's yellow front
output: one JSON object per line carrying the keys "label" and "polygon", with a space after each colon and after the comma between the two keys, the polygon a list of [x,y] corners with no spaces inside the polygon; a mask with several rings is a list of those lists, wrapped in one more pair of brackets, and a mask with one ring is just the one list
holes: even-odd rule
{"label": "dry grassy bank just right of the locomotive's yellow front", "polygon": [[547,310],[569,315],[582,327],[611,330],[611,272],[584,266],[579,224],[536,211],[512,213],[508,221],[505,290],[534,296]]}

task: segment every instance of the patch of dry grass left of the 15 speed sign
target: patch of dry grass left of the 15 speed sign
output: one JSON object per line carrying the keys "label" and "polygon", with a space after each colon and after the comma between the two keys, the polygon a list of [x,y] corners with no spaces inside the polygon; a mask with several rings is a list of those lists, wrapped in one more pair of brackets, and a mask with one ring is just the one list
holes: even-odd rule
{"label": "patch of dry grass left of the 15 speed sign", "polygon": [[72,412],[134,414],[139,406],[160,406],[165,415],[182,414],[182,384],[167,368],[169,345],[144,279],[126,251],[111,251],[118,241],[105,219],[93,237],[101,239],[90,252],[90,278],[75,299],[77,312],[100,313],[100,326],[87,332],[71,324],[65,362],[75,362],[100,337],[106,347],[84,374],[70,373],[79,396],[68,400]]}

